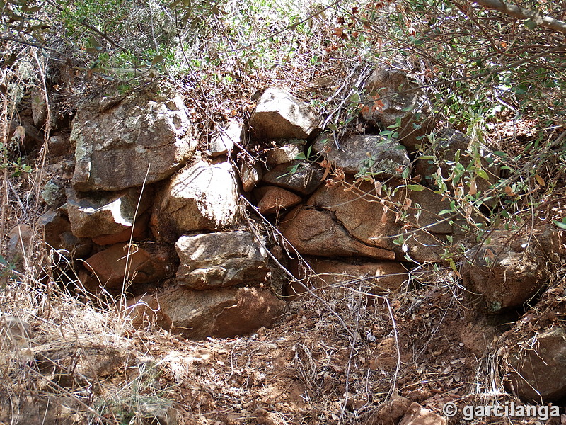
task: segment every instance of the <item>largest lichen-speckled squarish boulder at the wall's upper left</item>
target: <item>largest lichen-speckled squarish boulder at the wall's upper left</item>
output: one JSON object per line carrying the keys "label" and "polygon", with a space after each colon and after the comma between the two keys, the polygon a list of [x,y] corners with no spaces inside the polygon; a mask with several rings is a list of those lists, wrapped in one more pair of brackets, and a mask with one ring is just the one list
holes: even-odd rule
{"label": "largest lichen-speckled squarish boulder at the wall's upper left", "polygon": [[79,106],[71,143],[77,191],[118,191],[166,179],[197,145],[180,94],[156,86]]}

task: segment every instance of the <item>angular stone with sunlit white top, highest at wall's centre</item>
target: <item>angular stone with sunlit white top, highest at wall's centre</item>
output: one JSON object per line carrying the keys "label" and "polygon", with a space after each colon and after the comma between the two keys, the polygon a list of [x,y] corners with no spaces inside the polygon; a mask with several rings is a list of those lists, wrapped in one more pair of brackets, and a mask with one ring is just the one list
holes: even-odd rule
{"label": "angular stone with sunlit white top, highest at wall's centre", "polygon": [[306,139],[319,125],[320,118],[308,103],[276,87],[262,94],[250,118],[255,134],[267,139]]}

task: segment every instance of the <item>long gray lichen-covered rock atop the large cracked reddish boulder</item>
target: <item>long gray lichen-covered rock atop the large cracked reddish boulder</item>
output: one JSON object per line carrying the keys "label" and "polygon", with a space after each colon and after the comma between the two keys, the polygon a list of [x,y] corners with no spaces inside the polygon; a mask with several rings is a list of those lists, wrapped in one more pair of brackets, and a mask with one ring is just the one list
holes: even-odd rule
{"label": "long gray lichen-covered rock atop the large cracked reddish boulder", "polygon": [[403,169],[410,166],[405,148],[381,136],[351,135],[342,140],[339,150],[328,136],[320,135],[313,148],[330,164],[351,174],[401,177]]}

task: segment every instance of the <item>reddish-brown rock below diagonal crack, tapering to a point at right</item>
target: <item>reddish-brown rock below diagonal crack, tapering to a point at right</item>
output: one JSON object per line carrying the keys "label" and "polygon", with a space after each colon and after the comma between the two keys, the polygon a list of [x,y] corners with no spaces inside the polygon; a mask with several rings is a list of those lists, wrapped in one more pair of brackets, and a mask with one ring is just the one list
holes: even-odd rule
{"label": "reddish-brown rock below diagonal crack, tapering to a point at right", "polygon": [[283,233],[301,254],[395,259],[395,253],[352,239],[329,212],[303,208]]}

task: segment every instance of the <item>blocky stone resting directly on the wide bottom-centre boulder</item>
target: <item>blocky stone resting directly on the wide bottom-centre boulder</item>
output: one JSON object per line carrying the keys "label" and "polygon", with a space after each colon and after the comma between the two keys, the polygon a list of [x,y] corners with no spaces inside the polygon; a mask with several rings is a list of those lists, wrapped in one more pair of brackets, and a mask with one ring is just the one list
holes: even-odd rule
{"label": "blocky stone resting directly on the wide bottom-centre boulder", "polygon": [[191,289],[261,283],[267,276],[267,253],[250,232],[185,235],[175,249],[177,282]]}

